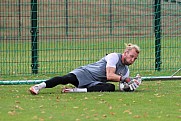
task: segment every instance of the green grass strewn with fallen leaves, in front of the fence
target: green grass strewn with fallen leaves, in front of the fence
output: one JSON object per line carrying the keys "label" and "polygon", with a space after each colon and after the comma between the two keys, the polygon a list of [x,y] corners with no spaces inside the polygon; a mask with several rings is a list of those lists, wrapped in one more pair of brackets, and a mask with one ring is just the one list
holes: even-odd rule
{"label": "green grass strewn with fallen leaves, in front of the fence", "polygon": [[62,86],[57,86],[34,96],[27,91],[30,86],[0,86],[1,121],[181,119],[180,81],[146,81],[131,93],[61,93]]}

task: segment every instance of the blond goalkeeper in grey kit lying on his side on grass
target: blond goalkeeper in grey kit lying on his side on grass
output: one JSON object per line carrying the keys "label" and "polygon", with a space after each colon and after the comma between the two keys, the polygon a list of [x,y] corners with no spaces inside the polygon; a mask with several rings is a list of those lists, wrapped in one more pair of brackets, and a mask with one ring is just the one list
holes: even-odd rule
{"label": "blond goalkeeper in grey kit lying on his side on grass", "polygon": [[[53,77],[45,82],[30,87],[32,94],[38,94],[43,88],[53,88],[59,84],[72,84],[75,88],[65,88],[62,92],[111,92],[115,85],[108,82],[119,82],[121,91],[134,91],[140,79],[129,77],[128,66],[138,58],[140,48],[135,44],[125,44],[121,53],[110,53],[99,61],[74,69],[64,76]],[[138,77],[137,77],[138,78]]]}

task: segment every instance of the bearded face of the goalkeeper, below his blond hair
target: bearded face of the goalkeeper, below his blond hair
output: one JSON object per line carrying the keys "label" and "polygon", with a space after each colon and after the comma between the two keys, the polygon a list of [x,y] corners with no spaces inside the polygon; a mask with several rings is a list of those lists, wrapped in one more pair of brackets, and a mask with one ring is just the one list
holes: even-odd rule
{"label": "bearded face of the goalkeeper, below his blond hair", "polygon": [[138,58],[138,53],[136,52],[135,49],[129,50],[124,52],[123,56],[123,64],[125,65],[131,65],[134,63],[134,61]]}

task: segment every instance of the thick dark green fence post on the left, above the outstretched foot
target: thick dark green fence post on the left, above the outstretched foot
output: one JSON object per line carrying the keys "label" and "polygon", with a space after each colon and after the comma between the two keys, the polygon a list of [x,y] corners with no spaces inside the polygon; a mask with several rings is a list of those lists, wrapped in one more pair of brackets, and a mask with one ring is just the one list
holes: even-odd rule
{"label": "thick dark green fence post on the left, above the outstretched foot", "polygon": [[37,0],[31,0],[31,51],[32,51],[32,73],[38,73],[38,42],[37,42]]}

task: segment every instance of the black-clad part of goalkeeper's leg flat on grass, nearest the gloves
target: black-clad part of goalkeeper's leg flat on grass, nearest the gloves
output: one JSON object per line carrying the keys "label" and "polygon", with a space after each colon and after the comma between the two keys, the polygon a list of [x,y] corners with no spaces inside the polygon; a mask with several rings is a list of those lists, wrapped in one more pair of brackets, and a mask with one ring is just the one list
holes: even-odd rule
{"label": "black-clad part of goalkeeper's leg flat on grass, nearest the gloves", "polygon": [[115,91],[115,85],[111,83],[99,83],[87,88],[87,92],[113,92],[113,91]]}

